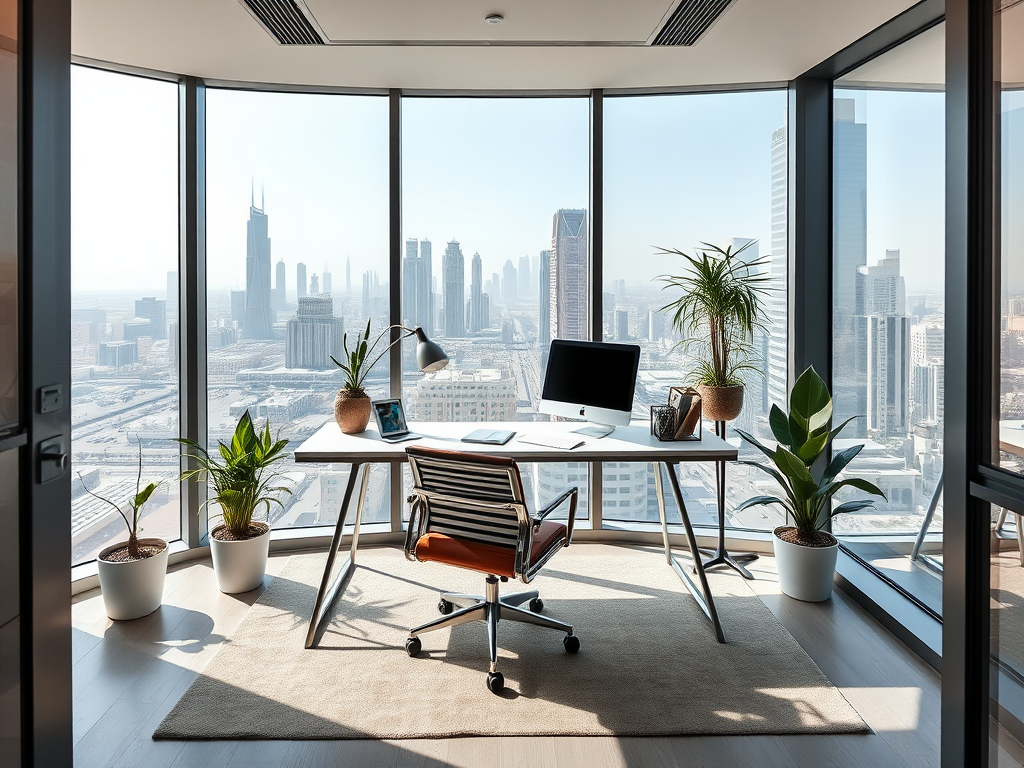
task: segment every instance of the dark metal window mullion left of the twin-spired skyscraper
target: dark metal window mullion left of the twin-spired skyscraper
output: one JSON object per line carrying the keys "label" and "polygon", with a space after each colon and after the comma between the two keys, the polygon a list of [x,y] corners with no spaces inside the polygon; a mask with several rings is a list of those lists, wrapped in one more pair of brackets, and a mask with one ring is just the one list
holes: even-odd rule
{"label": "dark metal window mullion left of the twin-spired skyscraper", "polygon": [[[184,78],[178,88],[178,425],[182,437],[206,445],[206,85]],[[181,468],[187,467],[186,460]],[[200,514],[206,483],[182,482],[181,539],[198,547],[208,530]]]}

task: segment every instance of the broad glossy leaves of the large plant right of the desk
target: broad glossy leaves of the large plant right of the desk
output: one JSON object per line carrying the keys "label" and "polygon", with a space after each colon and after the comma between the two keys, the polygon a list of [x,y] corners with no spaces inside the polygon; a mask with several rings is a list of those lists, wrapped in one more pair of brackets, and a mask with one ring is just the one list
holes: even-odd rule
{"label": "broad glossy leaves of the large plant right of the desk", "polygon": [[772,460],[774,467],[757,462],[743,461],[770,474],[782,488],[782,498],[758,496],[740,504],[736,511],[762,504],[778,504],[786,512],[786,519],[793,518],[797,528],[798,543],[812,544],[821,538],[818,531],[824,524],[846,512],[856,512],[873,506],[870,499],[858,499],[839,505],[829,511],[831,498],[841,488],[850,486],[866,494],[886,495],[873,483],[858,477],[837,480],[837,476],[861,452],[863,445],[853,445],[841,451],[833,460],[824,462],[825,452],[833,438],[851,421],[851,417],[833,429],[833,399],[825,383],[813,367],[808,368],[797,379],[790,393],[790,414],[786,416],[778,406],[772,406],[768,423],[778,441],[774,451],[765,447],[752,435],[736,430],[749,443]]}

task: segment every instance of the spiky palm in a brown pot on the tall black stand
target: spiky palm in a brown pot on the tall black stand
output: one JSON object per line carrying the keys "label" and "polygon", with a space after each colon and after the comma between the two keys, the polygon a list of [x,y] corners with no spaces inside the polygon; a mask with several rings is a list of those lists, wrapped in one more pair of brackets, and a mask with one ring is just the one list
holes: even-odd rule
{"label": "spiky palm in a brown pot on the tall black stand", "polygon": [[691,378],[700,392],[703,415],[712,421],[731,421],[743,408],[744,370],[751,365],[754,329],[761,325],[761,296],[768,293],[767,259],[738,258],[757,241],[735,251],[702,243],[696,255],[659,248],[662,254],[687,262],[682,274],[664,274],[664,288],[677,288],[680,297],[662,307],[672,312],[672,324],[682,334],[685,348],[696,347],[699,358]]}

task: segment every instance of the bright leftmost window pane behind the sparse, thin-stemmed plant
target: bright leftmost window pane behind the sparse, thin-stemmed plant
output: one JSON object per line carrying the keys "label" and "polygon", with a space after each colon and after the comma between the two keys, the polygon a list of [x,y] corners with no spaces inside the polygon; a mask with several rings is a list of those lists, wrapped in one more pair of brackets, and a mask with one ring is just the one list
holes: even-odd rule
{"label": "bright leftmost window pane behind the sparse, thin-stemmed plant", "polygon": [[72,68],[72,562],[126,537],[100,494],[161,482],[142,534],[180,538],[177,349],[167,273],[178,259],[178,88]]}

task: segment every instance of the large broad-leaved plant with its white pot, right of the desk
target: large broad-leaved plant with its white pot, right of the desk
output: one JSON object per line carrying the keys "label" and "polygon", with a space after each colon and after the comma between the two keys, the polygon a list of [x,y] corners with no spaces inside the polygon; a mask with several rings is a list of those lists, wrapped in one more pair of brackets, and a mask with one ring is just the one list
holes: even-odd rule
{"label": "large broad-leaved plant with its white pot, right of the desk", "polygon": [[785,510],[786,522],[774,530],[772,544],[778,580],[790,597],[808,602],[821,602],[831,596],[833,574],[839,542],[822,530],[836,515],[856,512],[874,504],[870,499],[858,499],[830,509],[831,499],[843,487],[854,487],[866,494],[881,496],[873,483],[858,477],[837,480],[863,445],[853,445],[824,461],[833,438],[857,417],[851,417],[836,429],[831,426],[833,400],[825,383],[814,368],[808,368],[797,379],[790,393],[790,414],[772,406],[768,422],[778,444],[772,451],[752,435],[736,430],[740,436],[771,459],[774,467],[744,461],[770,474],[782,488],[782,498],[758,496],[740,504],[736,511],[761,504],[777,504]]}

